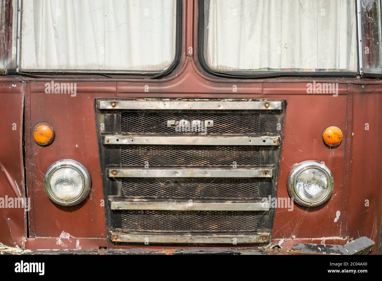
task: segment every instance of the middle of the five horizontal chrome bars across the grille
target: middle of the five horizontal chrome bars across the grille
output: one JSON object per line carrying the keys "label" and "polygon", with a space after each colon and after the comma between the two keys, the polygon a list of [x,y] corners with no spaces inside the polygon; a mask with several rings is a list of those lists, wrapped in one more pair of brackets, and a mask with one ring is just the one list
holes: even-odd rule
{"label": "middle of the five horizontal chrome bars across the grille", "polygon": [[109,178],[272,178],[274,168],[111,168]]}

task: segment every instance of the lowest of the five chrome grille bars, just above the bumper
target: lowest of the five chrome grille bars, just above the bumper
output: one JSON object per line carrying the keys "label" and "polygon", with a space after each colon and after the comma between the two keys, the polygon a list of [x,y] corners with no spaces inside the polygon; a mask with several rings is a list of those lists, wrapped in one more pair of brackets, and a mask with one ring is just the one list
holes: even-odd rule
{"label": "lowest of the five chrome grille bars, just above the bumper", "polygon": [[257,244],[270,242],[270,233],[255,234],[167,234],[110,231],[113,242],[162,244]]}

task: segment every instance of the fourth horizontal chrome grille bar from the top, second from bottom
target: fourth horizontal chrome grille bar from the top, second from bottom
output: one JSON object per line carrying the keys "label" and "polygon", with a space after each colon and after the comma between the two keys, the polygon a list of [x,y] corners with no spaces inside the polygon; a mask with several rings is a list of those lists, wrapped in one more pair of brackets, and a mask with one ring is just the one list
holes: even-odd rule
{"label": "fourth horizontal chrome grille bar from the top, second from bottom", "polygon": [[111,210],[165,210],[165,211],[269,211],[270,203],[254,200],[149,200],[110,199]]}

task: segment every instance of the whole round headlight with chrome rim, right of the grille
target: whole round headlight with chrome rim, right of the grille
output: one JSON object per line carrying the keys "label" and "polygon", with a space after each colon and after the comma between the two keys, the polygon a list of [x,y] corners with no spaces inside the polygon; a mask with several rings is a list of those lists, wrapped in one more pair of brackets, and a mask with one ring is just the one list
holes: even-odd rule
{"label": "whole round headlight with chrome rim, right of the grille", "polygon": [[333,175],[325,164],[308,160],[296,165],[288,178],[288,191],[299,205],[321,205],[332,195]]}

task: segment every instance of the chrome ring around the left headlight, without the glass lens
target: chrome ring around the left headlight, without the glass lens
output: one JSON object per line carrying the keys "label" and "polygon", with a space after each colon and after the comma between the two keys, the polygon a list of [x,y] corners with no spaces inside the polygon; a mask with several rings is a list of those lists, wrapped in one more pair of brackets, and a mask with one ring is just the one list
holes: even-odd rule
{"label": "chrome ring around the left headlight, without the glass lens", "polygon": [[[81,194],[76,197],[73,200],[70,201],[65,201],[65,200],[60,200],[57,197],[55,197],[50,189],[50,177],[52,176],[53,172],[57,171],[58,169],[61,168],[71,168],[75,171],[77,171],[82,178],[83,182],[83,189],[81,191]],[[71,159],[63,159],[59,160],[55,163],[53,163],[47,172],[45,173],[44,176],[44,189],[50,200],[55,202],[58,205],[61,206],[73,206],[77,205],[78,203],[81,203],[84,199],[86,199],[87,195],[89,195],[91,188],[91,179],[90,179],[90,174],[86,170],[85,166],[79,163],[78,161],[71,160]]]}

